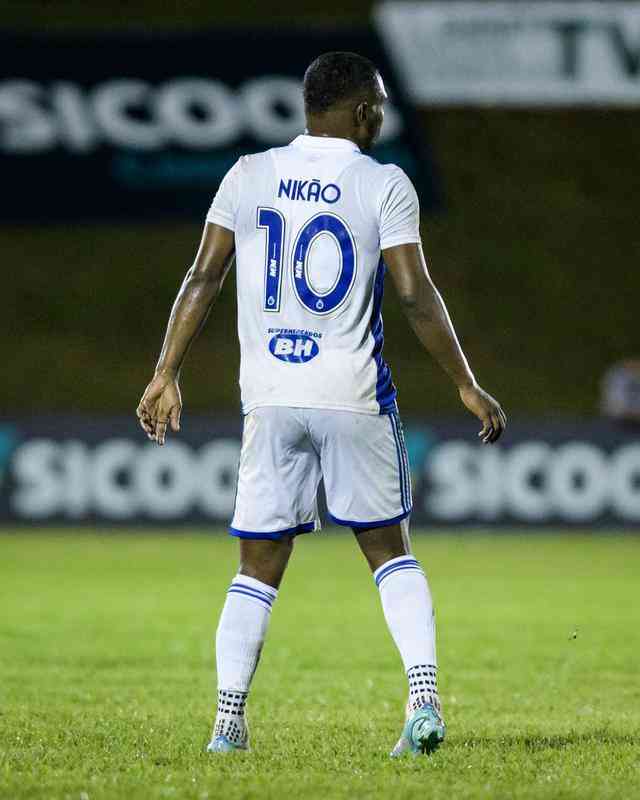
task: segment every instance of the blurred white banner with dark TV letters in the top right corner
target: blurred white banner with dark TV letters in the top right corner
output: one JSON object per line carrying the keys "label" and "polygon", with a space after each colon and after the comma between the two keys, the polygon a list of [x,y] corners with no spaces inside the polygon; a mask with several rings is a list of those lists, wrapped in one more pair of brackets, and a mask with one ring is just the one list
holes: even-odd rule
{"label": "blurred white banner with dark TV letters in the top right corner", "polygon": [[640,106],[640,2],[385,2],[375,20],[420,105]]}

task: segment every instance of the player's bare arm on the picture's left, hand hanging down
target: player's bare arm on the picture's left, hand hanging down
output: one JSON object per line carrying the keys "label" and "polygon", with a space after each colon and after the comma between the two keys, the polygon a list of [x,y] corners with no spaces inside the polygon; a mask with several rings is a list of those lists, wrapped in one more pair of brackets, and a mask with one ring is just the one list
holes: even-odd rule
{"label": "player's bare arm on the picture's left, hand hanging down", "polygon": [[233,263],[233,231],[208,222],[193,265],[171,309],[160,358],[144,391],[137,415],[147,436],[162,445],[167,426],[180,429],[180,370],[191,343],[202,329]]}

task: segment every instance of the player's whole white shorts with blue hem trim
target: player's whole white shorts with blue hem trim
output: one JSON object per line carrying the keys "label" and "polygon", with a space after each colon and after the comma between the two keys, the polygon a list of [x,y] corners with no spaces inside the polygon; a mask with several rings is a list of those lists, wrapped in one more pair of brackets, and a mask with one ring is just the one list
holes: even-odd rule
{"label": "player's whole white shorts with blue hem trim", "polygon": [[396,413],[263,406],[244,421],[230,533],[278,539],[319,528],[324,479],[330,519],[394,525],[411,513],[411,477]]}

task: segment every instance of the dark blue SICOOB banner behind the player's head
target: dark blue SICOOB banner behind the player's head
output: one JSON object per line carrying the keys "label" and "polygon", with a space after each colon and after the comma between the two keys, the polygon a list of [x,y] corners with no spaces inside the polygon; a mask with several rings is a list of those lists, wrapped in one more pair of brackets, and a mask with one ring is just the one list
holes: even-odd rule
{"label": "dark blue SICOOB banner behind the player's head", "polygon": [[327,50],[355,50],[391,96],[372,155],[438,204],[429,149],[373,30],[0,36],[0,219],[204,219],[245,153],[304,130],[301,84]]}

